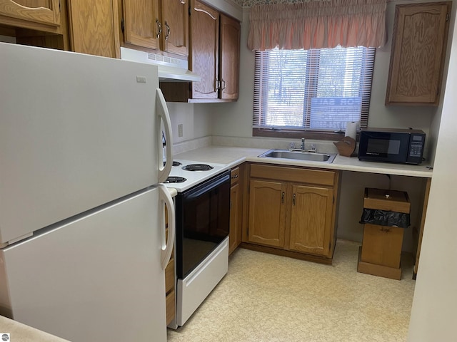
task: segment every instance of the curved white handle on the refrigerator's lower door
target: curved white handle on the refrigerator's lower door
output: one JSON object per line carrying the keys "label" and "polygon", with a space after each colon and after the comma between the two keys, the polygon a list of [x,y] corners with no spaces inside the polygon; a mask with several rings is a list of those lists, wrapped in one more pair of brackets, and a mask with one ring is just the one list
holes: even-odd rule
{"label": "curved white handle on the refrigerator's lower door", "polygon": [[[169,190],[166,189],[165,185],[157,185],[159,188],[160,196],[160,210],[161,210],[161,262],[162,269],[165,269],[171,258],[171,252],[173,252],[174,238],[175,238],[175,216],[174,216],[174,203]],[[168,212],[168,223],[169,223],[169,234],[166,238],[166,224],[165,224],[165,204]],[[166,241],[165,241],[166,240]]]}

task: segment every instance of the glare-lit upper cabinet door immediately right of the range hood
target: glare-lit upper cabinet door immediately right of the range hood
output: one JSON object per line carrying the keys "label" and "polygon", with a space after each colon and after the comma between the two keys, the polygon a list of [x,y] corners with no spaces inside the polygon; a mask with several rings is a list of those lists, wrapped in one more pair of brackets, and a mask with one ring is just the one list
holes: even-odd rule
{"label": "glare-lit upper cabinet door immediately right of the range hood", "polygon": [[191,70],[201,76],[192,83],[192,98],[218,98],[219,12],[198,0],[191,2]]}

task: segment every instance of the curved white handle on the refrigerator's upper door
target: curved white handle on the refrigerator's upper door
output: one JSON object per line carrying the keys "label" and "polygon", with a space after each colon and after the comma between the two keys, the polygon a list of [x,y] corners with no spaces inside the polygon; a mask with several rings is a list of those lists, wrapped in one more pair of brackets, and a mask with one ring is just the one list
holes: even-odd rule
{"label": "curved white handle on the refrigerator's upper door", "polygon": [[157,137],[159,137],[159,183],[163,183],[170,175],[171,167],[173,166],[173,155],[171,151],[171,147],[173,146],[173,136],[171,135],[171,120],[170,120],[170,113],[166,106],[164,94],[158,88],[156,89],[156,113],[161,118],[161,121],[164,123],[164,133],[165,133],[165,141],[168,145],[166,149],[166,163],[162,166],[162,135],[161,135],[161,125],[157,125],[158,132]]}

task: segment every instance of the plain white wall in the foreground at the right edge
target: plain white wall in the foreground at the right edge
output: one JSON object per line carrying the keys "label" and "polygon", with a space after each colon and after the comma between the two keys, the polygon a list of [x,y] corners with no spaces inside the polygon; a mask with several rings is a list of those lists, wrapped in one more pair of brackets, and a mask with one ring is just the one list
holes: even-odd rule
{"label": "plain white wall in the foreground at the right edge", "polygon": [[457,26],[436,148],[408,341],[456,341]]}

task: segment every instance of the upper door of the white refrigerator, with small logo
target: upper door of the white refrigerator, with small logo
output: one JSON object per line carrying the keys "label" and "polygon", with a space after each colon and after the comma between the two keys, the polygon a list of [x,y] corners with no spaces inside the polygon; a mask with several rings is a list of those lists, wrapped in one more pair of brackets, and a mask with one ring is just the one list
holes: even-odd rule
{"label": "upper door of the white refrigerator, with small logo", "polygon": [[159,182],[156,66],[0,43],[0,75],[0,244]]}

